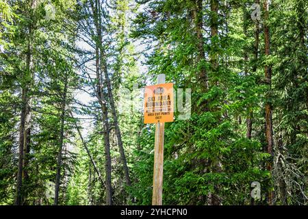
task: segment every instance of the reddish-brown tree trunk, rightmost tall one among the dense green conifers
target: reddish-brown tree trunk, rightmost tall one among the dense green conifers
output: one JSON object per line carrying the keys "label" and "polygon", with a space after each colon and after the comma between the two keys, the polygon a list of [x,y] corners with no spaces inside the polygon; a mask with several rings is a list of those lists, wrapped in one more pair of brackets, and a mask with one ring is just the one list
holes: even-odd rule
{"label": "reddish-brown tree trunk, rightmost tall one among the dense green conifers", "polygon": [[[269,3],[264,0],[264,41],[265,41],[265,55],[270,55],[270,27],[269,22]],[[273,132],[272,132],[272,103],[270,102],[270,91],[272,90],[272,66],[266,65],[264,68],[266,83],[268,84],[268,92],[266,94],[266,143],[267,152],[273,155]],[[268,162],[268,170],[272,170],[272,160]],[[268,203],[273,204],[274,192],[268,192]]]}

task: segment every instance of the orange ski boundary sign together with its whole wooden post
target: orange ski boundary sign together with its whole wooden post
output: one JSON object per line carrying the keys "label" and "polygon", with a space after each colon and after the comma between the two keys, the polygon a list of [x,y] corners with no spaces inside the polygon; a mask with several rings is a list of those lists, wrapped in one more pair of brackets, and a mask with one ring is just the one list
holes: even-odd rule
{"label": "orange ski boundary sign together with its whole wooden post", "polygon": [[165,75],[157,77],[157,85],[146,86],[144,92],[144,123],[156,123],[152,205],[162,205],[164,169],[164,127],[173,121],[173,84],[165,83]]}

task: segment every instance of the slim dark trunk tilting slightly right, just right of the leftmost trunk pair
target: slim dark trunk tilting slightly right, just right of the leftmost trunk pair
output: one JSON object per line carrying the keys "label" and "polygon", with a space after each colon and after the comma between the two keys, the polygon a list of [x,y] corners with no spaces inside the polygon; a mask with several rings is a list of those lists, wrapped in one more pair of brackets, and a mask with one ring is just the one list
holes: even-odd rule
{"label": "slim dark trunk tilting slightly right, just right of the leftmost trunk pair", "polygon": [[53,205],[57,205],[59,201],[67,87],[68,87],[68,81],[66,77],[64,81],[64,90],[62,94],[61,116],[60,116],[60,140],[59,140],[59,145],[58,145],[59,151],[57,153],[57,173],[55,175],[55,200],[54,200]]}

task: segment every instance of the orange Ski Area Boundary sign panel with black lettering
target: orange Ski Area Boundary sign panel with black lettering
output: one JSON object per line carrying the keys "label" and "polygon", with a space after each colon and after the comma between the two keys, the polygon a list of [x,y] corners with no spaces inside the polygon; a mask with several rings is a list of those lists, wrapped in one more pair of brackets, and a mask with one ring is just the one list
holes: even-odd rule
{"label": "orange Ski Area Boundary sign panel with black lettering", "polygon": [[146,86],[144,123],[173,122],[173,83]]}

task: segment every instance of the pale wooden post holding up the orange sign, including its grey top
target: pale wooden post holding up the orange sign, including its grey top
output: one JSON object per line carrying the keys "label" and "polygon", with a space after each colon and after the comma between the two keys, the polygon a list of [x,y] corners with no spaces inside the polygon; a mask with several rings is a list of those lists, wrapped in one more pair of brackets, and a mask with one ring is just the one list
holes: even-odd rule
{"label": "pale wooden post holding up the orange sign, including its grey top", "polygon": [[[157,83],[165,83],[165,79],[166,76],[164,74],[158,75]],[[165,123],[156,123],[152,205],[162,205],[162,186],[164,170],[164,128]]]}

